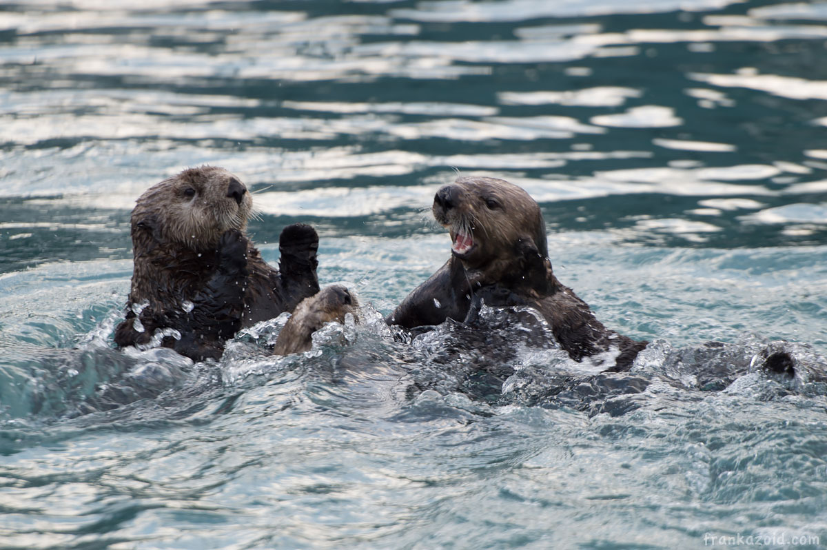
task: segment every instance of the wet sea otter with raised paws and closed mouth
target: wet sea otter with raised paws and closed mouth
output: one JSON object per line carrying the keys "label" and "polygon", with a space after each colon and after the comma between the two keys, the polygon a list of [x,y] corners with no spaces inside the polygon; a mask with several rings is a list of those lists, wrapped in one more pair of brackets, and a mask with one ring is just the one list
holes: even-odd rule
{"label": "wet sea otter with raised paws and closed mouth", "polygon": [[218,358],[240,328],[292,311],[318,292],[313,227],[284,227],[275,270],[245,235],[251,211],[245,185],[215,166],[184,170],[138,198],[127,318],[115,330],[119,347],[146,344],[167,329],[161,345],[196,361]]}

